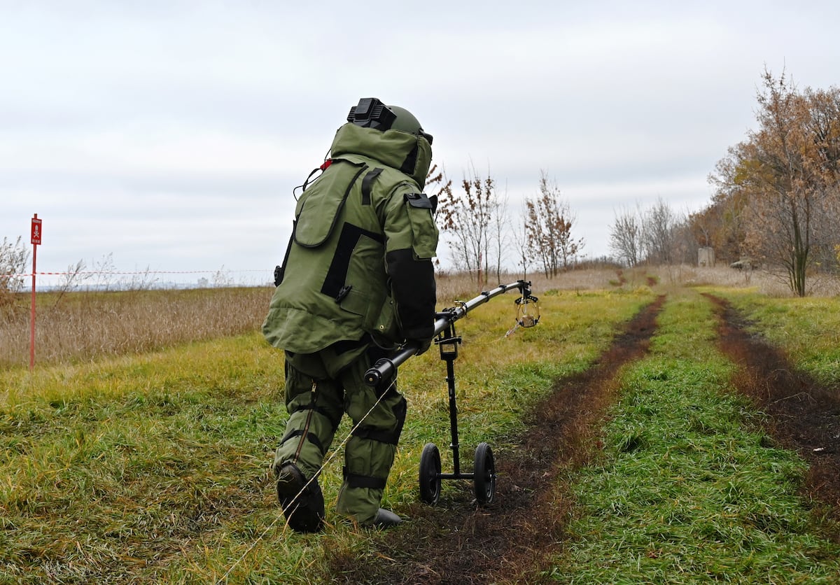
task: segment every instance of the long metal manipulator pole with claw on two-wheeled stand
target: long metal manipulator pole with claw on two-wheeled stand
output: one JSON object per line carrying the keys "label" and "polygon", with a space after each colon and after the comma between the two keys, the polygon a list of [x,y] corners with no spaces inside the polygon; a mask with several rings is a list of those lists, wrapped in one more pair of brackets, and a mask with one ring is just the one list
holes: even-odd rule
{"label": "long metal manipulator pole with claw on two-wheeled stand", "polygon": [[[493,290],[482,292],[475,299],[466,302],[456,301],[455,305],[435,313],[434,339],[440,350],[440,358],[446,362],[446,382],[449,389],[449,431],[452,438],[453,473],[441,473],[440,452],[434,443],[427,443],[420,455],[420,499],[427,504],[437,504],[440,498],[440,484],[444,479],[471,479],[475,488],[475,500],[480,505],[487,505],[496,495],[496,463],[493,460],[493,450],[486,442],[479,443],[475,449],[473,473],[462,473],[460,469],[460,454],[458,441],[458,407],[455,402],[455,368],[454,361],[458,357],[458,346],[461,338],[455,333],[455,321],[476,306],[483,305],[494,296],[502,295],[508,290],[519,290],[521,296],[517,298],[517,323],[508,335],[517,327],[533,327],[539,321],[537,297],[531,295],[531,283],[517,280],[510,285],[499,285]],[[365,382],[376,387],[383,380],[391,380],[396,375],[396,368],[405,363],[408,358],[417,353],[417,346],[407,344],[392,358],[381,358],[365,373]]]}

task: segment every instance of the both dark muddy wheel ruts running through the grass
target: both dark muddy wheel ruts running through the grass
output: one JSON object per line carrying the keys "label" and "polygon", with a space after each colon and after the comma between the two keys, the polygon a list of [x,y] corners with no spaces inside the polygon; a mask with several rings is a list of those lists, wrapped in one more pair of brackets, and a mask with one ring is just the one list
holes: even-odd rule
{"label": "both dark muddy wheel ruts running through the grass", "polygon": [[[742,366],[736,386],[767,413],[774,441],[811,464],[806,495],[840,519],[837,389],[795,373],[782,353],[744,330],[725,300],[708,298],[719,317],[720,347]],[[640,311],[592,368],[555,384],[528,416],[528,431],[513,441],[517,447],[496,454],[499,479],[489,506],[477,507],[471,485],[458,482],[464,488],[437,507],[414,504],[406,514],[411,530],[386,533],[375,559],[360,564],[350,552],[334,553],[335,582],[549,582],[540,572],[563,546],[574,503],[565,479],[598,448],[594,433],[615,399],[618,369],[643,358],[663,303],[661,296]]]}

